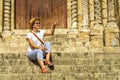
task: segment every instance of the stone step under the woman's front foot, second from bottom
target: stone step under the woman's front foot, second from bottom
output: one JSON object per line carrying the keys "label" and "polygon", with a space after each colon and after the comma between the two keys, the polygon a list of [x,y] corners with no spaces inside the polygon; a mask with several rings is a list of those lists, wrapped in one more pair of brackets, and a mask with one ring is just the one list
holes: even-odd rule
{"label": "stone step under the woman's front foot, second from bottom", "polygon": [[[54,65],[54,70],[47,69],[56,73],[113,73],[120,72],[119,65]],[[0,74],[36,74],[41,73],[38,65],[35,66],[0,66]]]}

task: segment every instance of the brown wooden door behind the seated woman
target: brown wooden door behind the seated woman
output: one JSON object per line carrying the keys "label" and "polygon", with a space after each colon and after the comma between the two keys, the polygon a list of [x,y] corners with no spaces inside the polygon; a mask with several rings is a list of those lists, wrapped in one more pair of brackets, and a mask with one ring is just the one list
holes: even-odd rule
{"label": "brown wooden door behind the seated woman", "polygon": [[41,28],[50,29],[55,20],[57,28],[67,28],[66,0],[15,0],[15,29],[29,29],[29,20],[41,18]]}

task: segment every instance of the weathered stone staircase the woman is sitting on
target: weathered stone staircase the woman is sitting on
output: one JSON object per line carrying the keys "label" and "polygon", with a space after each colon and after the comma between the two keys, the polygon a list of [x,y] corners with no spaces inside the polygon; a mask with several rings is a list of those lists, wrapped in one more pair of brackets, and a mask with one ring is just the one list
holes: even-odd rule
{"label": "weathered stone staircase the woman is sitting on", "polygon": [[74,34],[45,38],[52,44],[54,70],[41,73],[26,57],[25,35],[0,39],[0,80],[120,80],[120,48],[88,45]]}

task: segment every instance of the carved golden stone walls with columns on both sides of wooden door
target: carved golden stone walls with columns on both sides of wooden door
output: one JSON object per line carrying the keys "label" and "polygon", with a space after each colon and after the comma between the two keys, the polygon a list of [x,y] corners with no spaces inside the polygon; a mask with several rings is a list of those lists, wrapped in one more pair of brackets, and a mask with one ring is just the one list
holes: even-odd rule
{"label": "carved golden stone walls with columns on both sides of wooden door", "polygon": [[[1,0],[0,4],[0,32],[16,32],[14,0]],[[85,37],[90,46],[120,46],[119,7],[119,0],[67,0],[68,34]]]}

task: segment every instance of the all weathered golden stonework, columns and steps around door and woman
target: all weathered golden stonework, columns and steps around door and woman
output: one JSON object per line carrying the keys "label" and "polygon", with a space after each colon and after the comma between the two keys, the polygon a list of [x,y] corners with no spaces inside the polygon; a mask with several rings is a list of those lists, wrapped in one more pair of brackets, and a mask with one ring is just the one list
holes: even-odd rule
{"label": "all weathered golden stonework, columns and steps around door and woman", "polygon": [[29,30],[14,29],[14,1],[0,4],[0,80],[120,80],[120,0],[67,0],[67,29],[44,38],[55,68],[48,74],[26,56]]}

